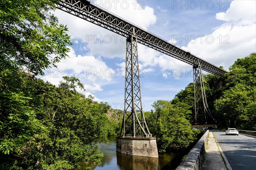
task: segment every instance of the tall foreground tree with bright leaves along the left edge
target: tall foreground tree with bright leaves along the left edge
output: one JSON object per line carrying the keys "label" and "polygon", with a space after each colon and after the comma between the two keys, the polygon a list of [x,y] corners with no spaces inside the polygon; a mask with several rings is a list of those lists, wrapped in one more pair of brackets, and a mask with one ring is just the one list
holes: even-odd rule
{"label": "tall foreground tree with bright leaves along the left edge", "polygon": [[[41,130],[33,94],[25,90],[28,79],[67,57],[66,45],[72,44],[67,27],[49,13],[55,2],[0,1],[0,152],[10,159]],[[21,71],[24,68],[32,74]]]}

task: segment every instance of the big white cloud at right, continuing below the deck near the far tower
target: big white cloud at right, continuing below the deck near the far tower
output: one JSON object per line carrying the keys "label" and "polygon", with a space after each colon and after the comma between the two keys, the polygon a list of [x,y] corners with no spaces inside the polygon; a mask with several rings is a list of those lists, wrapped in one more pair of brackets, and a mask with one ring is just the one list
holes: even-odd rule
{"label": "big white cloud at right, continuing below the deck near the far tower", "polygon": [[[256,1],[232,1],[230,9],[216,14],[216,19],[225,21],[224,24],[215,28],[212,34],[191,40],[182,48],[214,65],[229,68],[236,59],[256,51],[255,7]],[[174,40],[169,42],[175,43]],[[163,54],[158,55],[153,61],[151,65],[159,65],[164,78],[168,77],[168,70],[192,69],[191,65]]]}

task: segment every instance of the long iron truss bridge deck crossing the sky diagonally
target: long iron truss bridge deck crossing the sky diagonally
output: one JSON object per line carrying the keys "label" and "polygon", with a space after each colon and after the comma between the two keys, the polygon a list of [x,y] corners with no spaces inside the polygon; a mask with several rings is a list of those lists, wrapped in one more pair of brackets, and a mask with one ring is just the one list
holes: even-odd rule
{"label": "long iron truss bridge deck crossing the sky diagonally", "polygon": [[189,51],[185,51],[176,45],[151,34],[143,28],[118,17],[99,6],[91,4],[87,0],[60,0],[59,3],[56,4],[56,7],[124,37],[135,35],[137,37],[137,41],[141,44],[190,65],[200,65],[202,70],[211,74],[223,77],[224,73],[226,73],[226,71],[195,56],[194,54],[191,54]]}

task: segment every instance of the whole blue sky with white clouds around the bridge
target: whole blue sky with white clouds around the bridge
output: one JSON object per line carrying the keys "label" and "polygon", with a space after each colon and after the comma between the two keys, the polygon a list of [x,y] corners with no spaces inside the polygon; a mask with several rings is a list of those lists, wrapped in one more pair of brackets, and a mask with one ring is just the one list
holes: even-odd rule
{"label": "whole blue sky with white clouds around the bridge", "polygon": [[[256,52],[254,0],[91,0],[214,65],[228,69],[237,58]],[[78,77],[84,95],[122,109],[124,103],[125,38],[56,10],[74,42],[70,58],[45,71],[45,81],[57,85],[62,76]],[[138,46],[144,111],[158,99],[172,100],[193,81],[192,66]],[[122,74],[123,73],[123,74]]]}

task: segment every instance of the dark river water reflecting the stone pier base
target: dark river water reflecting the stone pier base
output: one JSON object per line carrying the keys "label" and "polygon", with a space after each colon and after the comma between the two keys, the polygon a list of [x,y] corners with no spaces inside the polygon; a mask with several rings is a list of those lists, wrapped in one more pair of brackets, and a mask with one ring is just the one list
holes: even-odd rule
{"label": "dark river water reflecting the stone pier base", "polygon": [[[175,170],[185,155],[159,153],[158,158],[130,156],[116,152],[116,136],[109,136],[108,140],[109,143],[98,143],[104,157],[102,164],[92,167],[93,170]],[[85,167],[82,169],[85,170]]]}

